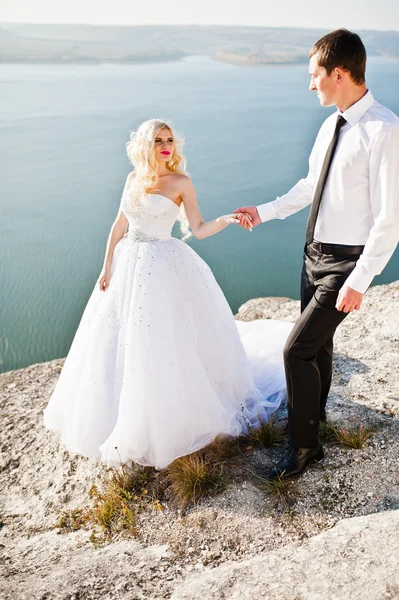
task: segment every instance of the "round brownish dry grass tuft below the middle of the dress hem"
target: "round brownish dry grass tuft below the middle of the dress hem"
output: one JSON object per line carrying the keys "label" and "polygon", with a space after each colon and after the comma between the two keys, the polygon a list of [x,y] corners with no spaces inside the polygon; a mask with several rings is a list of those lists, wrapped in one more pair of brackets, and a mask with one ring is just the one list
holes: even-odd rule
{"label": "round brownish dry grass tuft below the middle of the dress hem", "polygon": [[175,460],[168,467],[171,491],[182,506],[226,489],[223,465],[201,453]]}

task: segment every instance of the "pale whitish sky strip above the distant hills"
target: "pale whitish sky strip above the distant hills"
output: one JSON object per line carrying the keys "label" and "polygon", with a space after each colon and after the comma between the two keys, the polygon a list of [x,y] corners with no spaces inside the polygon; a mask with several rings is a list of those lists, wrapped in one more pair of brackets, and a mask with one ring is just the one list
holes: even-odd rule
{"label": "pale whitish sky strip above the distant hills", "polygon": [[0,22],[398,31],[399,8],[397,0],[0,0]]}

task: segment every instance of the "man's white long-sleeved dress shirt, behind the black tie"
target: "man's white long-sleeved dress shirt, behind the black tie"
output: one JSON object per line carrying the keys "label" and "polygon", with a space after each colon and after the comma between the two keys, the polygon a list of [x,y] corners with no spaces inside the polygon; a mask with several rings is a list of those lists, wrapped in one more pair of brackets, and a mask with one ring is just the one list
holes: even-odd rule
{"label": "man's white long-sleeved dress shirt, behind the black tie", "polygon": [[314,237],[319,242],[364,245],[346,283],[366,292],[399,242],[399,118],[368,91],[317,134],[309,173],[284,196],[258,206],[261,221],[285,219],[311,204],[338,114],[346,119],[324,187]]}

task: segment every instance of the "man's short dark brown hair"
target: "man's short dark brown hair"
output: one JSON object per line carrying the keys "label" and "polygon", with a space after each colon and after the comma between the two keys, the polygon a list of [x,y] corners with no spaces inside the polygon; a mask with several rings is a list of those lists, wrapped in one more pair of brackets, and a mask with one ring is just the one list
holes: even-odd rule
{"label": "man's short dark brown hair", "polygon": [[317,53],[317,62],[331,75],[333,69],[341,67],[349,71],[357,85],[365,83],[366,48],[357,33],[347,29],[336,29],[314,44],[309,58]]}

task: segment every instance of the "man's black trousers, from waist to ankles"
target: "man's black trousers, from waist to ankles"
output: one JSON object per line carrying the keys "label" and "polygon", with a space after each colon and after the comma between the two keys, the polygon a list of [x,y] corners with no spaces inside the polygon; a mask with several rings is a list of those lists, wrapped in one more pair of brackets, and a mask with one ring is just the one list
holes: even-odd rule
{"label": "man's black trousers, from waist to ankles", "polygon": [[305,245],[301,316],[284,348],[288,434],[293,448],[318,443],[320,416],[325,414],[331,386],[333,336],[348,314],[338,311],[335,303],[361,254],[353,246],[329,246],[327,251],[314,242]]}

